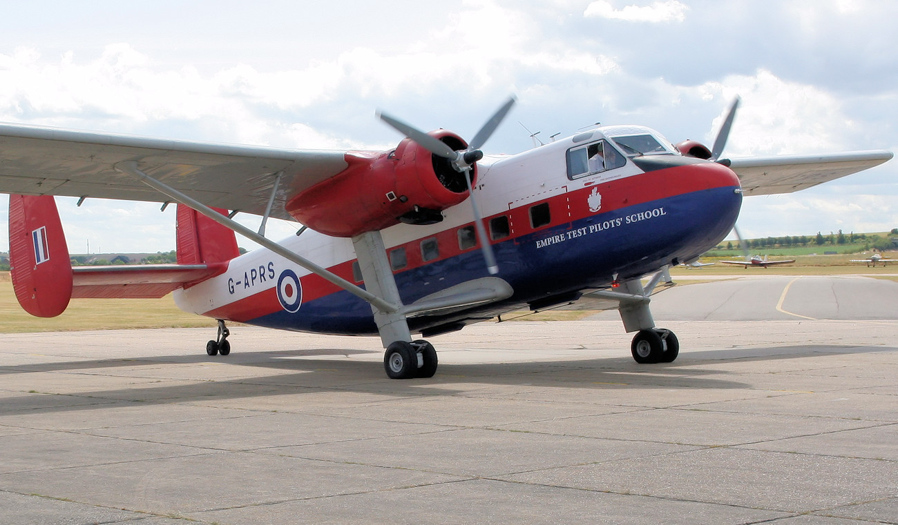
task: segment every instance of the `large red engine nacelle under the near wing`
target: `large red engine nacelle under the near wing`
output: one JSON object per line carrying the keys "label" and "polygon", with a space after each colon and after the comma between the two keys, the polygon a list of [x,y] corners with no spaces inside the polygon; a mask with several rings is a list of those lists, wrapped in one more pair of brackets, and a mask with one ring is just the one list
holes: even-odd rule
{"label": "large red engine nacelle under the near wing", "polygon": [[[428,135],[464,150],[468,144],[440,129]],[[384,153],[347,153],[349,166],[291,198],[287,213],[313,230],[352,237],[396,223],[432,224],[468,197],[465,174],[448,159],[406,138]],[[471,166],[471,186],[477,166]]]}

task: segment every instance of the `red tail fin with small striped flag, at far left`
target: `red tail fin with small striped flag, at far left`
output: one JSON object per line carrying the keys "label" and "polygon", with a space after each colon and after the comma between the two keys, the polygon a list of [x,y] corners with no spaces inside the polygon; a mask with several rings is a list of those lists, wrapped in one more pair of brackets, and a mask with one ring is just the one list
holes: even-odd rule
{"label": "red tail fin with small striped flag, at far left", "polygon": [[9,262],[22,308],[56,317],[72,298],[72,261],[52,196],[9,196]]}

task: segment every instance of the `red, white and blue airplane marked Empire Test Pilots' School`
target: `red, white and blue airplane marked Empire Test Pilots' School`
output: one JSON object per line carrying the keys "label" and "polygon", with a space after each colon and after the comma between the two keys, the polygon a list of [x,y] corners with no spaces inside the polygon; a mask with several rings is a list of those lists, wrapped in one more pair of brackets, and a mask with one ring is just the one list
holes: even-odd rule
{"label": "red, white and blue airplane marked Empire Test Pilots' School", "polygon": [[[589,299],[593,308],[617,308],[626,331],[637,332],[638,363],[672,362],[679,343],[656,328],[650,295],[670,281],[669,267],[724,239],[744,195],[810,188],[892,158],[721,159],[736,103],[711,150],[671,144],[647,127],[607,126],[484,155],[480,147],[513,103],[470,143],[381,115],[406,136],[384,152],[0,125],[16,297],[26,311],[52,317],[72,297],[174,292],[181,309],[218,319],[210,355],[231,351],[225,320],[376,334],[394,379],[436,372],[434,346],[412,333],[432,337],[507,311]],[[178,263],[71,267],[57,195],[177,202]],[[237,213],[260,215],[259,232],[234,222]],[[269,217],[303,228],[270,241]],[[263,249],[238,256],[234,232]]]}

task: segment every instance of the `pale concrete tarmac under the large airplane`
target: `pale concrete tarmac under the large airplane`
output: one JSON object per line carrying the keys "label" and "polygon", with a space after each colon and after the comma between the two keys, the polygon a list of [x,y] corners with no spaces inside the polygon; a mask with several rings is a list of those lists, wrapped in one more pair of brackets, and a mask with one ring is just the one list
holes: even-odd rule
{"label": "pale concrete tarmac under the large airplane", "polygon": [[[751,275],[751,271],[746,271]],[[435,337],[0,335],[0,523],[898,523],[898,283],[756,276]]]}

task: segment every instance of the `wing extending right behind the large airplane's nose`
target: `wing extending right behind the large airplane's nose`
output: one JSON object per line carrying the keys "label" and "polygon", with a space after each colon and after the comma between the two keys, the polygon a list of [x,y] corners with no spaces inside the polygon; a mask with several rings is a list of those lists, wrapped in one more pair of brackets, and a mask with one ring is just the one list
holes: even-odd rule
{"label": "wing extending right behind the large airplane's nose", "polygon": [[891,152],[873,150],[730,159],[729,167],[739,176],[744,195],[773,195],[811,188],[878,166],[891,158]]}

